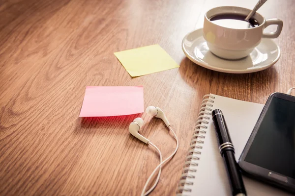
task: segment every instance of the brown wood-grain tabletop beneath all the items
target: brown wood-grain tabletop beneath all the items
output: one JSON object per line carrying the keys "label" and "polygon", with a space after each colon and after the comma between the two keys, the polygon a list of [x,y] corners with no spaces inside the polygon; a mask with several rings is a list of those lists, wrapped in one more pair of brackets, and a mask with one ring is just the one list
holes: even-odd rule
{"label": "brown wood-grain tabletop beneath all the items", "polygon": [[[190,62],[185,34],[215,6],[257,0],[10,0],[0,3],[0,195],[140,195],[156,151],[128,132],[138,116],[79,118],[85,87],[143,85],[145,106],[162,108],[180,146],[151,195],[175,195],[202,97],[264,103],[295,86],[295,2],[269,0],[284,21],[280,60],[259,73],[228,74]],[[131,78],[113,54],[159,44],[179,69]],[[141,134],[167,157],[175,141],[146,114]]]}

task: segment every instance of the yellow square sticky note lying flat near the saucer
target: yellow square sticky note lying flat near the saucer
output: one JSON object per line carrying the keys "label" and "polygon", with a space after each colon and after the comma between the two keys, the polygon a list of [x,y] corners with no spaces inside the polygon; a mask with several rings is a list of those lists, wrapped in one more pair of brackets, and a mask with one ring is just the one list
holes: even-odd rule
{"label": "yellow square sticky note lying flat near the saucer", "polygon": [[114,54],[132,77],[179,67],[159,45],[128,49]]}

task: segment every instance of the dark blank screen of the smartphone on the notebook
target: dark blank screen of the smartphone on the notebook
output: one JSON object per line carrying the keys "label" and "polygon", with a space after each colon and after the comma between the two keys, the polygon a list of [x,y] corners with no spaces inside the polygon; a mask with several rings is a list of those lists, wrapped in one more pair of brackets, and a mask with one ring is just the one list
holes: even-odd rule
{"label": "dark blank screen of the smartphone on the notebook", "polygon": [[295,102],[271,99],[244,161],[295,178]]}

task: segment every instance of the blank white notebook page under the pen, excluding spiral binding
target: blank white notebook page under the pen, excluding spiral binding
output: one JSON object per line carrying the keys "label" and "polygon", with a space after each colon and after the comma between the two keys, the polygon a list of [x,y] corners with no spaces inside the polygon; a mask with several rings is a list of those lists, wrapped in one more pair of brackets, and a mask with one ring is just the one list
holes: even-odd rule
{"label": "blank white notebook page under the pen, excluding spiral binding", "polygon": [[[210,94],[215,97],[212,110],[221,109],[231,139],[236,150],[238,160],[248,138],[263,109],[263,104],[246,102],[232,98],[225,98]],[[202,154],[200,155],[197,172],[193,179],[191,193],[183,193],[189,196],[230,196],[231,188],[228,182],[223,159],[218,150],[214,125],[210,117],[206,138],[204,140]],[[291,196],[278,188],[244,177],[244,184],[248,196]]]}

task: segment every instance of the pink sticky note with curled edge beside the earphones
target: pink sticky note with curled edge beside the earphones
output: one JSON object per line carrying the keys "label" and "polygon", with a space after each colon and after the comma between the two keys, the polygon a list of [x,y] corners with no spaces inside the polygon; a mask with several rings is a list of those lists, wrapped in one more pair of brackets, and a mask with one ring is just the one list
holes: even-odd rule
{"label": "pink sticky note with curled edge beside the earphones", "polygon": [[142,112],[143,86],[87,86],[79,117],[121,116]]}

